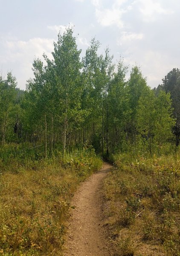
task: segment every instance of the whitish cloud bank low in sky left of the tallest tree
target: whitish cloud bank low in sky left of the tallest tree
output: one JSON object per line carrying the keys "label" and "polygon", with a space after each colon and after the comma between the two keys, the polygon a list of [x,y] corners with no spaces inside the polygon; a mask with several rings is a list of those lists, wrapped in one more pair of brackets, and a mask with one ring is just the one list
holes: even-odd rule
{"label": "whitish cloud bank low in sky left of the tallest tree", "polygon": [[31,38],[28,41],[17,38],[0,38],[0,47],[4,50],[0,55],[0,66],[3,72],[9,67],[17,78],[18,87],[25,88],[26,80],[33,76],[32,63],[34,58],[42,58],[45,52],[52,58],[53,38]]}

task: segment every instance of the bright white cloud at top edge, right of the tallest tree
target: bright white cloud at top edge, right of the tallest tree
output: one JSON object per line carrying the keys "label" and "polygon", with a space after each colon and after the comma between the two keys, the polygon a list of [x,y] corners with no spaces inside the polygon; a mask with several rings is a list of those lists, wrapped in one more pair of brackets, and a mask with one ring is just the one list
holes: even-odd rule
{"label": "bright white cloud at top edge, right of the tallest tree", "polygon": [[[102,0],[91,0],[95,6],[96,19],[102,26],[117,26],[122,29],[125,26],[123,15],[130,11],[140,12],[143,21],[154,21],[160,15],[171,15],[174,12],[165,8],[163,0],[112,0],[109,8],[105,8]],[[130,19],[131,20],[131,19]]]}

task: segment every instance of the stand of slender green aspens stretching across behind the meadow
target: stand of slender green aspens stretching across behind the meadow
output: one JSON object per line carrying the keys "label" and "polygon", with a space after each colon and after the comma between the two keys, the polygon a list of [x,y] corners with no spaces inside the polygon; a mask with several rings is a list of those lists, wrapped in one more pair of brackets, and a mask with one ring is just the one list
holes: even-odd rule
{"label": "stand of slender green aspens stretching across behind the meadow", "polygon": [[99,55],[99,46],[92,39],[80,60],[73,30],[67,28],[54,43],[53,59],[44,55],[46,64],[34,61],[35,78],[28,81],[26,91],[16,88],[11,73],[0,78],[1,147],[31,143],[43,148],[44,157],[57,148],[65,154],[87,145],[104,155],[128,150],[160,154],[163,145],[173,145],[174,127],[178,145],[179,78],[173,87],[175,101],[167,85],[169,76],[152,90],[139,67],[133,67],[126,81],[123,60],[113,64],[109,49]]}

